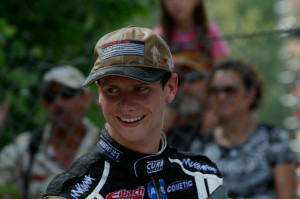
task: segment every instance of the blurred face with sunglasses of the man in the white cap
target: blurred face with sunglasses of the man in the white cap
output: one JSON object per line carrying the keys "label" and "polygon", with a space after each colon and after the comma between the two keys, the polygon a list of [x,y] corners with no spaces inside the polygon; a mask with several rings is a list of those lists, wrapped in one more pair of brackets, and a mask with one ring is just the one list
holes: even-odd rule
{"label": "blurred face with sunglasses of the man in the white cap", "polygon": [[80,122],[90,103],[90,93],[54,82],[45,85],[42,91],[42,106],[56,126],[69,127]]}

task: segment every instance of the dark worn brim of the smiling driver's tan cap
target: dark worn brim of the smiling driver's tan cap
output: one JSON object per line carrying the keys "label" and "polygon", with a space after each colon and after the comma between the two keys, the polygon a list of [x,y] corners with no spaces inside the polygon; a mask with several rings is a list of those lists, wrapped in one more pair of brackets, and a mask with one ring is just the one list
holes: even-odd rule
{"label": "dark worn brim of the smiling driver's tan cap", "polygon": [[93,74],[90,74],[84,81],[82,86],[88,87],[90,84],[101,79],[102,77],[111,75],[128,77],[142,82],[154,84],[159,82],[166,73],[170,72],[163,69],[150,67],[114,66],[109,68],[102,68],[94,72]]}

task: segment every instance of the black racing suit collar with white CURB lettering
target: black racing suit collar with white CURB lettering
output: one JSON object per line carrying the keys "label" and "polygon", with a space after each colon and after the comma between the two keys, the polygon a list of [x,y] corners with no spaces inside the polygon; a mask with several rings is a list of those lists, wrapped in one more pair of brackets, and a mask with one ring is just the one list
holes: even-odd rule
{"label": "black racing suit collar with white CURB lettering", "polygon": [[160,175],[169,167],[169,147],[164,133],[161,135],[161,149],[157,154],[129,150],[114,141],[105,128],[101,131],[97,145],[108,162],[133,172],[138,178]]}

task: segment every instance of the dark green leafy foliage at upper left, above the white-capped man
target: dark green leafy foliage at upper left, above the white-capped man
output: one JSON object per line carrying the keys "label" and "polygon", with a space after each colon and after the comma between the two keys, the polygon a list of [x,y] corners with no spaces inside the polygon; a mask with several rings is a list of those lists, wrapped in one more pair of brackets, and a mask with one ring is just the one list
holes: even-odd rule
{"label": "dark green leafy foliage at upper left, above the white-capped man", "polygon": [[[97,40],[127,26],[134,16],[149,16],[154,5],[154,0],[1,1],[0,107],[6,104],[9,111],[0,129],[0,148],[18,133],[45,124],[39,104],[45,71],[69,64],[88,74]],[[88,117],[102,127],[93,93]]]}

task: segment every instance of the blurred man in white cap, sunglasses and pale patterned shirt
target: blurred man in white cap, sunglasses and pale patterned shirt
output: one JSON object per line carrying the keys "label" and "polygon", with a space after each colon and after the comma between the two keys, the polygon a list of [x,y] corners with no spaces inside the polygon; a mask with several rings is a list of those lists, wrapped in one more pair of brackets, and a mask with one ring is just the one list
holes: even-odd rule
{"label": "blurred man in white cap, sunglasses and pale patterned shirt", "polygon": [[[44,75],[41,105],[49,123],[21,133],[0,154],[0,189],[15,186],[22,198],[41,198],[50,180],[97,142],[98,128],[85,113],[92,94],[81,84],[85,76],[71,66],[51,69]],[[0,195],[8,196],[9,193]]]}

